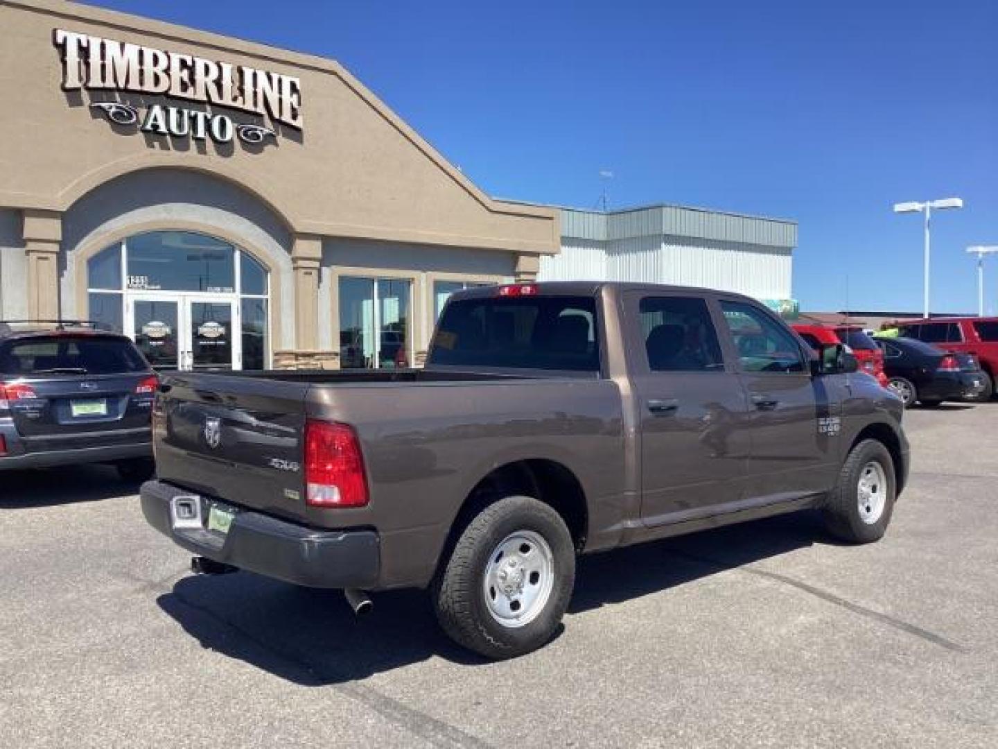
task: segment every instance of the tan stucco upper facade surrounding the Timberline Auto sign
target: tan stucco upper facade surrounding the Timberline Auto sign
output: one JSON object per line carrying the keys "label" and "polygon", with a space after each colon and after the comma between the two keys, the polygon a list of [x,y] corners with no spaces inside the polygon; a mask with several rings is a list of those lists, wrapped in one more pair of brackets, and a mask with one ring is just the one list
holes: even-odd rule
{"label": "tan stucco upper facade surrounding the Timberline Auto sign", "polygon": [[[357,237],[500,253],[558,250],[556,214],[481,193],[331,60],[53,0],[0,3],[0,206],[64,211],[97,185],[149,166],[227,175],[303,235]],[[209,111],[111,91],[63,91],[53,30],[112,38],[299,78],[303,128],[246,147],[111,125],[95,102]],[[237,122],[260,118],[225,110]],[[268,120],[263,124],[272,124]]]}

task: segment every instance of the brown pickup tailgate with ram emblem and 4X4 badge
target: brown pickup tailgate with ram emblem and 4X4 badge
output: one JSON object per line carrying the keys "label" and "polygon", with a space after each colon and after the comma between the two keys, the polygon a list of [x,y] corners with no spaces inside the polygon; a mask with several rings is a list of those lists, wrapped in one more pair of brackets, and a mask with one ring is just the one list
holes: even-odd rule
{"label": "brown pickup tailgate with ram emblem and 4X4 badge", "polygon": [[162,480],[303,520],[301,437],[307,382],[171,375],[154,418]]}

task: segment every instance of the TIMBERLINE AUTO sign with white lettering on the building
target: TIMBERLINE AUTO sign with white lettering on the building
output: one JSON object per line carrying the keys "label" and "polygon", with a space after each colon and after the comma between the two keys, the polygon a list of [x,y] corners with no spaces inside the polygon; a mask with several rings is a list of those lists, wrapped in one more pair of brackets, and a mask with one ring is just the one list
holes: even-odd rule
{"label": "TIMBERLINE AUTO sign with white lettering on the building", "polygon": [[[301,129],[301,81],[247,65],[215,62],[128,42],[56,29],[53,42],[62,57],[64,91],[118,91],[164,95],[213,104]],[[276,133],[262,125],[237,123],[225,114],[151,104],[145,113],[132,104],[90,105],[118,125],[144,133],[211,138],[217,143],[263,143]]]}

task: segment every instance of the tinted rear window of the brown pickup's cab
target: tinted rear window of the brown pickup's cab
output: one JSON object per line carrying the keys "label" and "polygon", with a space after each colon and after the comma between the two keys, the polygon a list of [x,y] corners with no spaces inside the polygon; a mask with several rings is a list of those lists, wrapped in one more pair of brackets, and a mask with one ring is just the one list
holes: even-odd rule
{"label": "tinted rear window of the brown pickup's cab", "polygon": [[590,297],[448,302],[427,364],[599,372],[596,303]]}

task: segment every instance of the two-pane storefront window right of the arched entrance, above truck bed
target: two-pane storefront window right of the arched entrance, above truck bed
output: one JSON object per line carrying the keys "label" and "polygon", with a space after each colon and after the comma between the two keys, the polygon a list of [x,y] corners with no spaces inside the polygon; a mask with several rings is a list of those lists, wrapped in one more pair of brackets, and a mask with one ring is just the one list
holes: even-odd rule
{"label": "two-pane storefront window right of the arched entrance, above truck bed", "polygon": [[411,286],[399,279],[339,280],[341,369],[409,366]]}

